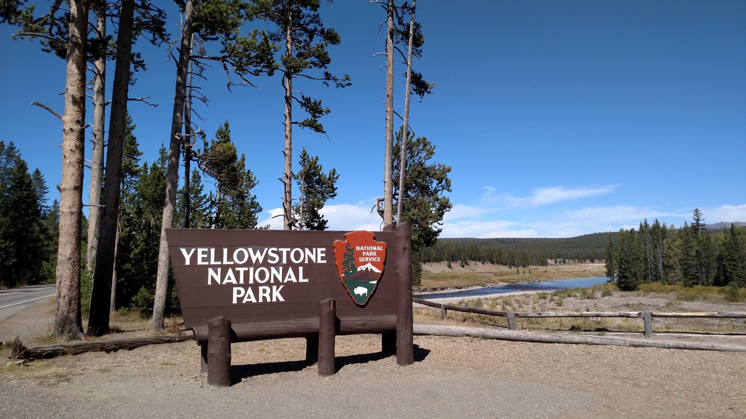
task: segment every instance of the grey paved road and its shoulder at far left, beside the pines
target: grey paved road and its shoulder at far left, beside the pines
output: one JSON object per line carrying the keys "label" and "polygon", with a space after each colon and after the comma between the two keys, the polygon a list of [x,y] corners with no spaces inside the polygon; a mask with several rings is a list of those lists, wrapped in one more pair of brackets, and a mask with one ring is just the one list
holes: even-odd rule
{"label": "grey paved road and its shoulder at far left, beside the pines", "polygon": [[54,284],[0,290],[0,341],[46,331],[54,306]]}

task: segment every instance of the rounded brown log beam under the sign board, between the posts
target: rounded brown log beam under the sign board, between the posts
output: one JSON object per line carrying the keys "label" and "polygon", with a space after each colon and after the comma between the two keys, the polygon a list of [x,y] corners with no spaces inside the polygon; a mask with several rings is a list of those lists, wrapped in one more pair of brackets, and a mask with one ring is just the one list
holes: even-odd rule
{"label": "rounded brown log beam under the sign board, between the posts", "polygon": [[[318,304],[317,304],[318,306]],[[396,330],[396,315],[375,315],[362,317],[339,317],[336,331],[340,334],[384,333]],[[291,338],[316,335],[319,333],[319,318],[299,318],[292,321],[262,321],[257,323],[233,324],[231,322],[231,342],[247,341],[256,338]],[[193,329],[198,342],[207,340],[207,326]]]}

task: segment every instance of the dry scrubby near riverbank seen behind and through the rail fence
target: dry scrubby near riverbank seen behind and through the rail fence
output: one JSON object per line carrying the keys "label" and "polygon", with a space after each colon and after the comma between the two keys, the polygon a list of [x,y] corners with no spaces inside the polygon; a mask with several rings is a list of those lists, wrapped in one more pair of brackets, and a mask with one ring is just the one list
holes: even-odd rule
{"label": "dry scrubby near riverbank seen behind and through the rail fence", "polygon": [[[428,300],[453,305],[505,312],[741,312],[746,311],[746,289],[739,301],[724,287],[662,286],[643,284],[640,291],[621,292],[614,283],[589,289],[565,289],[553,292],[522,292],[494,297]],[[446,321],[440,311],[420,304],[415,309],[416,323],[464,324],[507,327],[505,318],[471,313],[448,312]],[[633,318],[518,318],[519,330],[573,332],[642,332],[642,321]],[[656,333],[721,333],[746,335],[746,321],[730,318],[656,318]]]}

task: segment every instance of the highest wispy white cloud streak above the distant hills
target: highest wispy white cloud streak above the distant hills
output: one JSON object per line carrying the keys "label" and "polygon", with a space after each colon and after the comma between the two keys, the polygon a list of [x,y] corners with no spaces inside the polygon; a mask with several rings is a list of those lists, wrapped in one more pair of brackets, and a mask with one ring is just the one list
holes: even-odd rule
{"label": "highest wispy white cloud streak above the distant hills", "polygon": [[498,194],[492,187],[485,187],[482,201],[486,204],[505,203],[511,207],[541,207],[542,205],[554,204],[559,201],[572,201],[576,199],[589,198],[606,195],[614,192],[616,185],[599,186],[589,188],[577,186],[568,188],[565,186],[551,186],[548,188],[535,188],[527,196],[516,197],[510,194]]}

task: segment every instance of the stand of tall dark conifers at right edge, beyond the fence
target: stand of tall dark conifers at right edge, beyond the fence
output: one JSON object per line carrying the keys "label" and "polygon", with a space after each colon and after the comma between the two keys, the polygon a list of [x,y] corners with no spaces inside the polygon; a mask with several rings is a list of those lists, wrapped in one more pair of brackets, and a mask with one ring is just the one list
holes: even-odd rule
{"label": "stand of tall dark conifers at right edge, beyond the fence", "polygon": [[638,230],[620,230],[617,244],[609,236],[606,276],[623,290],[653,282],[746,286],[746,229],[731,224],[730,229],[708,232],[699,209],[692,212],[692,221],[676,229],[646,219]]}

